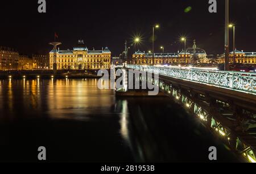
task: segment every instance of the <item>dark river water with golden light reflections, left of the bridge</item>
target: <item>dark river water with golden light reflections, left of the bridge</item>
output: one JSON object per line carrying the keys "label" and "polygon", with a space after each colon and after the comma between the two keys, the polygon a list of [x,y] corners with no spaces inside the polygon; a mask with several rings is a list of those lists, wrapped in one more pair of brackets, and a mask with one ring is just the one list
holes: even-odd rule
{"label": "dark river water with golden light reflections, left of the bridge", "polygon": [[96,79],[0,80],[0,162],[218,162],[235,156],[168,97],[115,99]]}

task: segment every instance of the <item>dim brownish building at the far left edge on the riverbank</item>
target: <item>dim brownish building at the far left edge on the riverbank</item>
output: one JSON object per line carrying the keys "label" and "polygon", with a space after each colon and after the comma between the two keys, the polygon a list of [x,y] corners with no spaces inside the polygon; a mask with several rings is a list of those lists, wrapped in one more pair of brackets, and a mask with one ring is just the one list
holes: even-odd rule
{"label": "dim brownish building at the far left edge on the riverbank", "polygon": [[0,70],[18,70],[19,53],[14,49],[0,46]]}

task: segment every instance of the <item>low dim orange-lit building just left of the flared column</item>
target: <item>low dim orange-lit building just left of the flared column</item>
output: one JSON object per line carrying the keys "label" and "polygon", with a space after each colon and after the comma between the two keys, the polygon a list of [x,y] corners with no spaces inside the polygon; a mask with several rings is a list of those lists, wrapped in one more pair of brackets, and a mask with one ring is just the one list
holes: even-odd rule
{"label": "low dim orange-lit building just left of the flared column", "polygon": [[32,55],[33,69],[47,70],[49,69],[49,55]]}

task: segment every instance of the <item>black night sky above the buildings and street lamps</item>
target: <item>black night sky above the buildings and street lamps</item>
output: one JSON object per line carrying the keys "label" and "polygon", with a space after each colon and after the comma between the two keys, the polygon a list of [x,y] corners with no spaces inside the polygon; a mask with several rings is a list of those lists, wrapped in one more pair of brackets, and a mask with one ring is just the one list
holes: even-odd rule
{"label": "black night sky above the buildings and street lamps", "polygon": [[[160,45],[166,52],[181,50],[179,37],[183,35],[188,46],[196,39],[197,46],[207,53],[224,52],[224,0],[217,0],[217,14],[208,12],[208,0],[46,2],[47,13],[39,14],[38,0],[1,1],[0,45],[24,54],[47,53],[56,31],[63,43],[60,49],[72,49],[77,40],[84,39],[89,49],[108,46],[114,56],[122,52],[125,40],[131,43],[137,33],[143,37],[139,48],[150,50],[151,26],[159,23],[155,52],[160,52]],[[186,13],[188,6],[192,10]],[[237,49],[256,52],[256,1],[230,1],[230,21],[237,26]]]}

